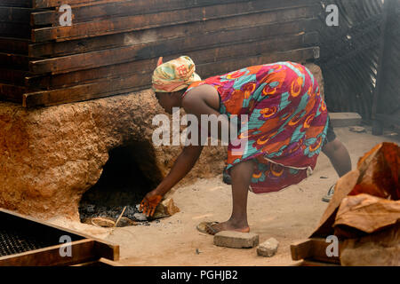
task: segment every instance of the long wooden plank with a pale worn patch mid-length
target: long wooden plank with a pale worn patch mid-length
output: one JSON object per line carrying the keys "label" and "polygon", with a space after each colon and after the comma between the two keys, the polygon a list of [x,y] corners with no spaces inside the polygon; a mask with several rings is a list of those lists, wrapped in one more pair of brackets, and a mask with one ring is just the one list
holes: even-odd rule
{"label": "long wooden plank with a pale worn patch mid-length", "polygon": [[223,19],[207,20],[205,22],[197,21],[186,25],[151,28],[66,42],[32,43],[29,44],[29,56],[54,58],[126,45],[161,42],[166,39],[172,40],[178,37],[203,36],[204,34],[221,30],[221,28],[228,30],[233,28],[261,26],[268,23],[294,20],[296,17],[298,20],[308,19],[312,18],[312,14],[316,13],[316,9],[319,8],[317,6],[313,7],[313,9],[309,7],[296,7],[282,11],[253,13]]}

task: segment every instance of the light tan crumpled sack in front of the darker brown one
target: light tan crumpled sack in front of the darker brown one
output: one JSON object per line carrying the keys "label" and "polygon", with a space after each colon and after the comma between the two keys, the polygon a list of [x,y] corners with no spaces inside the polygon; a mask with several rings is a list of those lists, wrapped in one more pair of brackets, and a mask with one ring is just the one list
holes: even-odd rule
{"label": "light tan crumpled sack in front of the darker brown one", "polygon": [[[334,227],[347,225],[364,233],[396,224],[400,220],[400,201],[388,201],[370,194],[348,196],[340,203]],[[335,231],[335,235],[340,235]]]}

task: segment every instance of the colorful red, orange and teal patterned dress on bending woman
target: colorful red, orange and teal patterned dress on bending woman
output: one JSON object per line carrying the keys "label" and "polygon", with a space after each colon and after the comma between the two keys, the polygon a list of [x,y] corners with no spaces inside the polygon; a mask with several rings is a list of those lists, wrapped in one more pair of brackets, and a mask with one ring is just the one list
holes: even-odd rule
{"label": "colorful red, orange and teal patterned dress on bending woman", "polygon": [[293,62],[246,67],[192,83],[188,91],[202,84],[219,92],[220,114],[248,115],[238,132],[245,146],[238,154],[237,146],[229,144],[224,174],[229,176],[238,162],[254,159],[249,190],[271,193],[298,184],[314,170],[328,113],[307,67]]}

